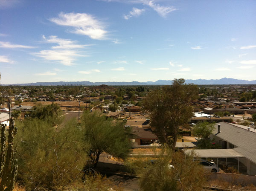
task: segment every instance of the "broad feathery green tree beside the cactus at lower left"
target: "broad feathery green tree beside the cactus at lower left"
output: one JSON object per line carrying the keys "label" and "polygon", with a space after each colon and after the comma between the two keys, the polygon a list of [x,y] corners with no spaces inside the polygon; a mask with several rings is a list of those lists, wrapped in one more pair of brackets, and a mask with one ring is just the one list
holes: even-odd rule
{"label": "broad feathery green tree beside the cactus at lower left", "polygon": [[26,185],[26,190],[56,190],[81,178],[87,155],[75,120],[61,128],[41,119],[18,123],[20,130],[15,136],[18,179]]}

